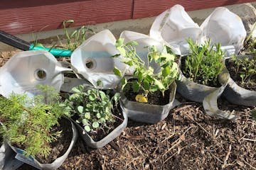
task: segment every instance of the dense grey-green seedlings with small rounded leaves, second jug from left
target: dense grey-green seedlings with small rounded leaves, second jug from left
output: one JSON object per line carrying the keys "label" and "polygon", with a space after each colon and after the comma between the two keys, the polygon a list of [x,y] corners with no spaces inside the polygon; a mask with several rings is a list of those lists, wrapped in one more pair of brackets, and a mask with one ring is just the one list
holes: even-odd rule
{"label": "dense grey-green seedlings with small rounded leaves, second jug from left", "polygon": [[84,91],[80,85],[72,89],[75,93],[70,95],[68,101],[70,108],[79,115],[78,123],[82,123],[86,132],[99,128],[109,128],[114,123],[113,110],[117,107],[120,95],[114,94],[112,98],[104,91],[89,89]]}

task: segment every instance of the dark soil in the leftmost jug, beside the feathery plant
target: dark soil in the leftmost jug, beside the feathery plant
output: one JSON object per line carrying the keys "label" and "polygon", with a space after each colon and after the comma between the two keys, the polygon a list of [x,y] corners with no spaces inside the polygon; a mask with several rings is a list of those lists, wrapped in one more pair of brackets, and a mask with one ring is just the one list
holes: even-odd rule
{"label": "dark soil in the leftmost jug, beside the feathery plant", "polygon": [[[59,125],[55,125],[53,129],[50,132],[57,132],[61,131],[60,136],[56,137],[57,140],[55,142],[50,143],[50,154],[47,158],[42,157],[41,155],[36,155],[36,159],[41,164],[50,164],[58,157],[61,157],[65,152],[68,150],[68,147],[70,146],[70,142],[73,137],[72,127],[69,120],[66,118],[61,118],[58,121]],[[19,169],[26,169],[26,164],[21,166]]]}

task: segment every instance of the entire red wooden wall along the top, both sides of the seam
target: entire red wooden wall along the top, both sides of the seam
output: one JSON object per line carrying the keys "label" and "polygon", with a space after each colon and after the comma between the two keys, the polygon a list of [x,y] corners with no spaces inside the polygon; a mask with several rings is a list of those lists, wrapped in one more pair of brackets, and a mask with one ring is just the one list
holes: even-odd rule
{"label": "entire red wooden wall along the top, both sides of the seam", "polygon": [[11,34],[54,30],[64,20],[72,26],[156,16],[175,4],[186,11],[254,0],[1,0],[0,30]]}

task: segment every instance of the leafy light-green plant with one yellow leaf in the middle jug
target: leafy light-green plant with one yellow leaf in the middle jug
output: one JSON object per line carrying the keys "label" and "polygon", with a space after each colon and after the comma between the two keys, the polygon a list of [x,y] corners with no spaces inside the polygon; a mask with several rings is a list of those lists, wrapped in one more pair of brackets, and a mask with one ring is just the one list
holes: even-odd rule
{"label": "leafy light-green plant with one yellow leaf in the middle jug", "polygon": [[[136,80],[127,82],[127,79],[122,78],[122,89],[124,89],[124,86],[129,85],[132,87],[134,93],[143,91],[143,94],[139,94],[136,100],[146,103],[149,93],[161,91],[164,96],[164,91],[169,89],[169,86],[175,79],[178,79],[178,65],[174,62],[175,55],[159,52],[154,46],[146,47],[149,52],[146,57],[147,64],[145,64],[141,57],[137,55],[135,45],[138,45],[135,41],[124,44],[123,38],[119,38],[115,43],[117,50],[119,50],[120,54],[126,59],[124,63],[135,69],[133,77]],[[119,55],[114,55],[113,57],[119,57]],[[155,62],[159,65],[161,68],[160,72],[154,72],[154,68],[150,66],[151,62]],[[114,67],[113,71],[114,74],[122,77],[122,73],[119,69]]]}

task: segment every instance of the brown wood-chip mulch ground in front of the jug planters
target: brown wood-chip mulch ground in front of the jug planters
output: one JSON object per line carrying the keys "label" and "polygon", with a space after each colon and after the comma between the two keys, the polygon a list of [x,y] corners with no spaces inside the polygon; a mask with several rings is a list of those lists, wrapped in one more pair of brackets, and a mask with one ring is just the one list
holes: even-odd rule
{"label": "brown wood-chip mulch ground in front of the jug planters", "polygon": [[252,108],[220,100],[220,108],[240,119],[216,120],[203,113],[201,103],[183,101],[156,125],[129,120],[122,135],[103,148],[91,149],[79,139],[59,169],[254,169]]}

